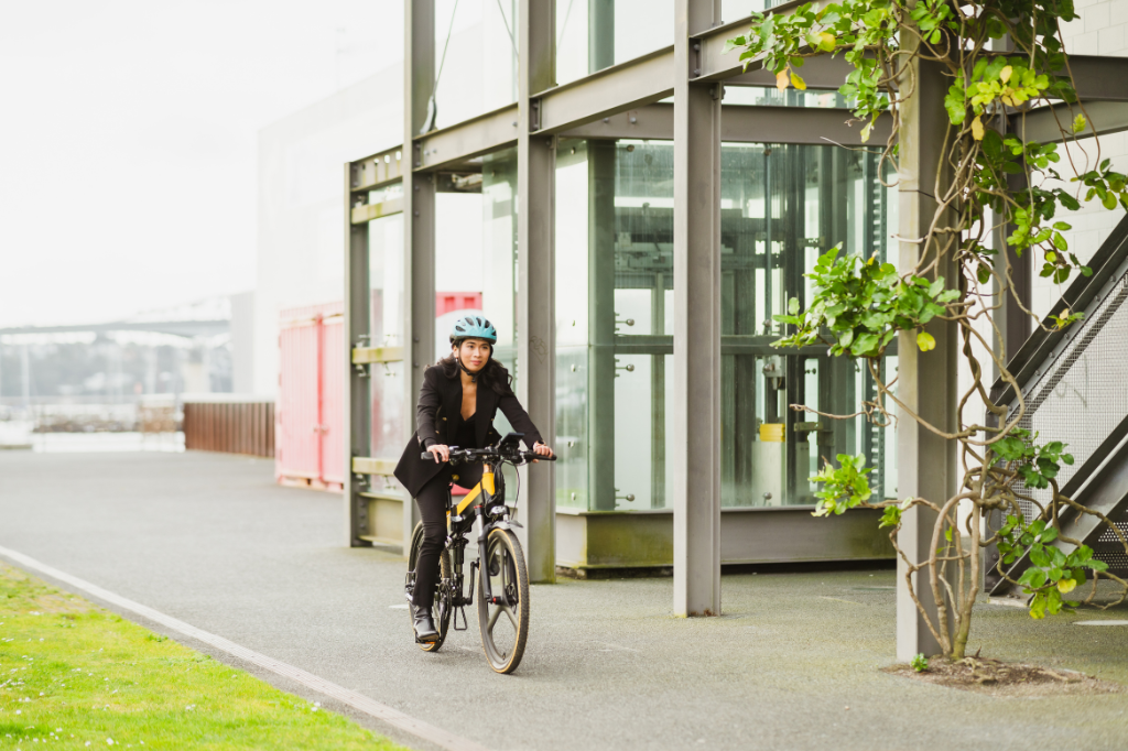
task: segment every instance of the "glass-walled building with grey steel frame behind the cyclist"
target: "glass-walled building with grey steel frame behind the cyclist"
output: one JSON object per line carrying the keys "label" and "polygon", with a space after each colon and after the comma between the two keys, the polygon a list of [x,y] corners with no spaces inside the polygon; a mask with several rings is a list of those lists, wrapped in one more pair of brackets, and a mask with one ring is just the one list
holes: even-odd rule
{"label": "glass-walled building with grey steel frame behind the cyclist", "polygon": [[[724,0],[721,11],[733,20],[772,5]],[[715,79],[723,86],[695,81],[678,99],[717,126],[704,134],[712,156],[693,157],[711,165],[694,184],[712,183],[714,193],[687,220],[675,197],[687,179],[676,167],[687,157],[673,140],[670,97],[686,44],[675,38],[677,7],[434,0],[433,15],[408,19],[404,143],[350,166],[350,264],[363,244],[369,290],[363,327],[349,303],[352,362],[365,363],[350,388],[354,405],[369,405],[349,444],[360,468],[346,489],[353,545],[409,537],[413,505],[389,474],[414,426],[422,371],[449,353],[452,317],[465,312],[442,300],[470,299],[496,326],[495,356],[558,454],[550,470],[522,474],[521,534],[539,581],[555,565],[669,566],[678,514],[705,507],[728,536],[724,563],[891,557],[866,514],[814,522],[809,511],[810,476],[839,453],[863,453],[879,493],[893,495],[892,433],[863,417],[792,408],[856,413],[874,398],[873,380],[826,346],[772,344],[785,334],[774,316],[791,298],[810,302],[804,273],[819,255],[840,244],[896,260],[897,201],[876,157],[858,148],[858,129],[845,123],[835,87],[810,76],[808,90],[779,91],[774,78],[732,70]],[[521,8],[543,15],[529,20]],[[716,27],[713,42],[694,39],[715,50],[740,33]],[[522,41],[534,51],[529,65],[520,64]],[[523,195],[522,185],[531,186]],[[716,232],[708,248],[694,239],[711,231],[706,212]],[[679,300],[676,277],[711,289],[678,265],[698,254],[689,263],[699,268],[705,253],[715,254],[712,300]],[[680,326],[700,323],[713,302],[717,348],[695,350],[698,338],[677,351],[676,326],[684,336],[689,327]],[[386,351],[356,352],[365,347]],[[896,351],[882,368],[895,371]],[[708,432],[717,448],[706,458],[719,469],[715,493],[676,475],[679,462],[693,469],[704,456],[689,459],[695,447],[676,434],[695,394],[678,382],[685,369],[690,379],[707,370],[706,389],[716,376],[719,419]],[[496,426],[510,428],[502,415]],[[774,530],[800,528],[794,549],[774,545]],[[700,545],[722,547],[720,532],[694,542],[691,555],[704,556]]]}

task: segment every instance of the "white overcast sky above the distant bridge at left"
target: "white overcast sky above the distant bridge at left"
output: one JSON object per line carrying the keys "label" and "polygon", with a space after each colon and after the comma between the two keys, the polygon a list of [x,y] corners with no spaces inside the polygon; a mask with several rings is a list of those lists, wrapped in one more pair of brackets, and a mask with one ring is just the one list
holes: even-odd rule
{"label": "white overcast sky above the distant bridge at left", "polygon": [[403,0],[0,0],[0,327],[253,289],[258,129],[402,29]]}

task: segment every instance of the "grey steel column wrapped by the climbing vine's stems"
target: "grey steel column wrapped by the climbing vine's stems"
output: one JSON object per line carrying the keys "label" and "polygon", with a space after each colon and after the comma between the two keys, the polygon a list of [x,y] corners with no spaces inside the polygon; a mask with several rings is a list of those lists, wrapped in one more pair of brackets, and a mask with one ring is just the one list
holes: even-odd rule
{"label": "grey steel column wrapped by the climbing vine's stems", "polygon": [[[946,184],[936,169],[946,160],[941,153],[948,148],[948,116],[944,112],[944,92],[948,83],[938,67],[915,61],[916,89],[902,105],[900,127],[900,202],[901,238],[920,238],[932,224],[936,198],[936,186]],[[900,268],[902,272],[917,266],[926,254],[936,253],[935,245],[945,236],[925,248],[923,244],[900,242]],[[955,268],[951,263],[953,253],[938,274],[955,283]],[[957,357],[959,342],[957,327],[948,321],[934,320],[927,330],[936,339],[936,348],[923,353],[916,346],[914,332],[898,335],[898,397],[906,407],[922,418],[944,431],[952,431],[955,416]],[[955,485],[955,441],[945,441],[922,427],[908,414],[900,414],[897,424],[897,494],[899,497],[926,498],[942,505],[951,497]],[[898,542],[910,560],[919,563],[928,558],[932,547],[935,512],[916,506],[905,513]],[[897,562],[897,659],[908,662],[917,653],[938,654],[940,645],[932,636],[917,611],[905,583],[907,573],[904,560]],[[914,574],[914,590],[922,604],[935,618],[936,603],[928,585],[927,573]]]}

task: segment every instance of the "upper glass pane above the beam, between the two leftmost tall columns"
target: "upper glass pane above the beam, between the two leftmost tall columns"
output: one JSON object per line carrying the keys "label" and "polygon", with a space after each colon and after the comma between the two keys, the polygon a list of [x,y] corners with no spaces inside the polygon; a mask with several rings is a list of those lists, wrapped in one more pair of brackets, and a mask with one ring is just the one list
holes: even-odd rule
{"label": "upper glass pane above the beam, between the two leftmost tall columns", "polygon": [[435,127],[517,101],[517,5],[434,0]]}

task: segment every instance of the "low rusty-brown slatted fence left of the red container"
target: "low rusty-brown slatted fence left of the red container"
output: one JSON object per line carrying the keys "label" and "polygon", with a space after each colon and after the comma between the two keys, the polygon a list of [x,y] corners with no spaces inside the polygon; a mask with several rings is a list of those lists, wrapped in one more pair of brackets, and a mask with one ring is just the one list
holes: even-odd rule
{"label": "low rusty-brown slatted fence left of the red container", "polygon": [[271,401],[186,403],[184,448],[253,457],[274,456],[274,404]]}

